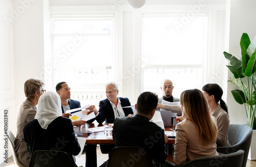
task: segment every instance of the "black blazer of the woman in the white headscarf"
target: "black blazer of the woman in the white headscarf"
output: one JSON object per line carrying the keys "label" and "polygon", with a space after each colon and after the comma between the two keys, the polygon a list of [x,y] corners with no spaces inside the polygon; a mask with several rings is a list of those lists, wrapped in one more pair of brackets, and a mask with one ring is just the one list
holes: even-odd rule
{"label": "black blazer of the woman in the white headscarf", "polygon": [[81,150],[72,122],[63,116],[55,118],[47,129],[42,129],[36,119],[28,122],[24,127],[23,138],[30,160],[36,150],[58,150],[66,152],[74,162],[72,155],[78,155]]}

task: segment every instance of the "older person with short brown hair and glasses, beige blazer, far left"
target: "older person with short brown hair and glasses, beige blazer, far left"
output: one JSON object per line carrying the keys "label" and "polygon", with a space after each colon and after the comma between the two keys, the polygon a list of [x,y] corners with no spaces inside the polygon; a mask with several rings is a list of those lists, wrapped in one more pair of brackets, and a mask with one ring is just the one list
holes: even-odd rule
{"label": "older person with short brown hair and glasses, beige blazer, far left", "polygon": [[25,166],[29,166],[29,154],[26,142],[23,140],[23,129],[29,121],[34,120],[38,99],[46,91],[44,86],[44,81],[33,78],[27,80],[24,84],[24,92],[27,99],[19,108],[14,150],[18,160]]}

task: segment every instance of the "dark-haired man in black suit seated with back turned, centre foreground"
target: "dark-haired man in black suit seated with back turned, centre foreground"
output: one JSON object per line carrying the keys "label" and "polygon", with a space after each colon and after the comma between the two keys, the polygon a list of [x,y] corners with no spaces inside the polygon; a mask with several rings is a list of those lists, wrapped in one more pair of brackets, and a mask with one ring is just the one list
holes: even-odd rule
{"label": "dark-haired man in black suit seated with back turned, centre foreground", "polygon": [[[167,157],[164,130],[149,120],[155,113],[157,101],[154,93],[141,93],[136,107],[140,105],[144,108],[137,107],[137,114],[133,117],[117,117],[113,127],[113,139],[116,147],[141,147],[146,150],[151,161],[155,159],[158,163],[164,163]],[[143,109],[146,109],[145,112],[141,112]],[[152,163],[152,166],[155,165]]]}

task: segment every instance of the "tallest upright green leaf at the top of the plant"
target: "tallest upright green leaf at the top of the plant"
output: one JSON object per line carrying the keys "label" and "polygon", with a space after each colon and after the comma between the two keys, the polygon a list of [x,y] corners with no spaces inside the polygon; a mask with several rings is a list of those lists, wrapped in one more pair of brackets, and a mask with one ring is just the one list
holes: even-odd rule
{"label": "tallest upright green leaf at the top of the plant", "polygon": [[241,40],[240,40],[243,74],[245,73],[245,69],[247,67],[247,62],[250,59],[250,56],[246,54],[246,51],[247,51],[250,43],[251,43],[251,41],[250,41],[248,34],[243,33]]}

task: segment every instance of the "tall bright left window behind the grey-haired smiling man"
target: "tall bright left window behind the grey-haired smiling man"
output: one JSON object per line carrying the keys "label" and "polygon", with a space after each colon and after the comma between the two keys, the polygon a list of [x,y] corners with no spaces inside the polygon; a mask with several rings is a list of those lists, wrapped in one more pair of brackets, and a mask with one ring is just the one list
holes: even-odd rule
{"label": "tall bright left window behind the grey-haired smiling man", "polygon": [[114,15],[52,17],[52,55],[53,87],[68,82],[72,99],[97,104],[115,80]]}

